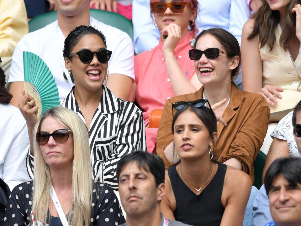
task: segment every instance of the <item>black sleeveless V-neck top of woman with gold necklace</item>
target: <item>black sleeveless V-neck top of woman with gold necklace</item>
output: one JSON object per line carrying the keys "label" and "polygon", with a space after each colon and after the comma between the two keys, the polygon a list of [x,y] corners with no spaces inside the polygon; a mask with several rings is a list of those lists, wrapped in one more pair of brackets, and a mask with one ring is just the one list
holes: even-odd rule
{"label": "black sleeveless V-neck top of woman with gold necklace", "polygon": [[218,163],[217,172],[211,182],[196,195],[182,181],[176,166],[170,167],[167,172],[177,203],[175,219],[190,225],[220,225],[224,213],[221,196],[226,170],[227,165]]}

